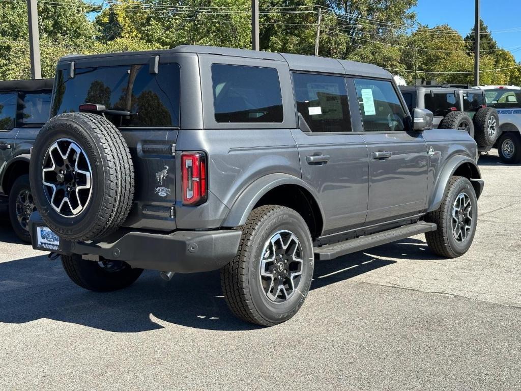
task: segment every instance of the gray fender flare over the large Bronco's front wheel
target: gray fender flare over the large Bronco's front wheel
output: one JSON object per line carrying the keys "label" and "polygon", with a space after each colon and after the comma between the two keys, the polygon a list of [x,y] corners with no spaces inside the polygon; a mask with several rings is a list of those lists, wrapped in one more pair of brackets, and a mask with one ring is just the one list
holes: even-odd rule
{"label": "gray fender flare over the large Bronco's front wheel", "polygon": [[427,212],[435,211],[440,207],[441,201],[445,195],[445,189],[454,175],[458,167],[463,164],[470,164],[473,167],[473,175],[469,178],[472,182],[474,189],[476,190],[476,198],[479,198],[481,191],[483,190],[483,180],[481,179],[481,173],[476,162],[471,158],[462,155],[456,155],[449,158],[442,168],[441,174],[438,176],[436,181],[435,190],[431,193],[429,203],[427,205]]}

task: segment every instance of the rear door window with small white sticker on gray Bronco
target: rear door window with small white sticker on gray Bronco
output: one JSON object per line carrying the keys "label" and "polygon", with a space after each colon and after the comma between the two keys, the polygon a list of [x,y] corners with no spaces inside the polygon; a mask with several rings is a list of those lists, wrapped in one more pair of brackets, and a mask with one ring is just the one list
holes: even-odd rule
{"label": "rear door window with small white sticker on gray Bronco", "polygon": [[349,132],[348,92],[339,76],[293,74],[297,111],[312,132]]}

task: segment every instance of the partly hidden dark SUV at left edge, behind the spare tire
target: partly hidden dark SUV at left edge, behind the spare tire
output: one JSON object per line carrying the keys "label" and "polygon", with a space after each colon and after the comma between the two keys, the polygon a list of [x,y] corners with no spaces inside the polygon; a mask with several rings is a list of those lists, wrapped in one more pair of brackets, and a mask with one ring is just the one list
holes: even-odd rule
{"label": "partly hidden dark SUV at left edge, behind the spare tire", "polygon": [[35,210],[30,153],[49,119],[52,91],[53,79],[0,81],[0,206],[7,207],[15,234],[29,243],[29,216]]}

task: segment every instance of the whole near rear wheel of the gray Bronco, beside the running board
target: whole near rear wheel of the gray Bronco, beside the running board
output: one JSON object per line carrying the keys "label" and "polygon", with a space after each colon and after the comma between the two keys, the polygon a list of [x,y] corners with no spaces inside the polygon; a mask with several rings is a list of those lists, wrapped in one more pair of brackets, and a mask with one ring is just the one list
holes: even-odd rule
{"label": "whole near rear wheel of the gray Bronco, beside the running board", "polygon": [[283,206],[253,210],[235,258],[221,269],[231,311],[246,322],[272,326],[300,309],[313,277],[313,243],[304,219]]}

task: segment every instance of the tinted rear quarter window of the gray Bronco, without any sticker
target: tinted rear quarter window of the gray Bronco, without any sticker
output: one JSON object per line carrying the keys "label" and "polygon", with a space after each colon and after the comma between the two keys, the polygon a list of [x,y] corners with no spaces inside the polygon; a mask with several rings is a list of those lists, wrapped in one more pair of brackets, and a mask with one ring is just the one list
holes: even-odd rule
{"label": "tinted rear quarter window of the gray Bronco, without any sticker", "polygon": [[277,69],[213,64],[212,85],[217,122],[282,122],[282,93]]}

